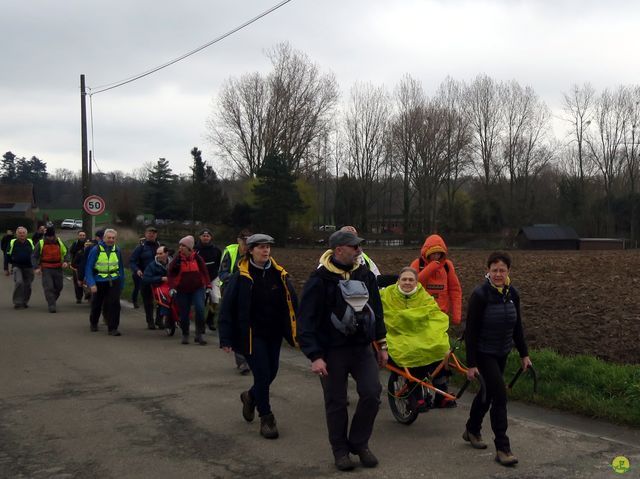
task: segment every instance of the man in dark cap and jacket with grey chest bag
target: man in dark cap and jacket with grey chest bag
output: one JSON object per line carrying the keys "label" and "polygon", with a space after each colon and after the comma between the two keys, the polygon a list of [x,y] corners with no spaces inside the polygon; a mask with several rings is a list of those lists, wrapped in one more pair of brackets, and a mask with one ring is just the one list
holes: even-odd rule
{"label": "man in dark cap and jacket with grey chest bag", "polygon": [[[329,442],[335,465],[353,469],[349,453],[360,457],[365,467],[378,459],[369,450],[369,438],[380,406],[382,386],[378,365],[388,359],[382,303],[375,275],[360,264],[364,240],[350,231],[337,231],[329,238],[332,248],[320,259],[321,266],[306,282],[298,309],[298,343],[311,360],[311,371],[320,377],[324,390]],[[366,304],[351,305],[343,290],[359,289]],[[371,342],[378,343],[374,352]],[[377,358],[376,358],[377,355]],[[376,363],[377,359],[377,363]],[[348,430],[347,379],[355,379],[359,395]]]}

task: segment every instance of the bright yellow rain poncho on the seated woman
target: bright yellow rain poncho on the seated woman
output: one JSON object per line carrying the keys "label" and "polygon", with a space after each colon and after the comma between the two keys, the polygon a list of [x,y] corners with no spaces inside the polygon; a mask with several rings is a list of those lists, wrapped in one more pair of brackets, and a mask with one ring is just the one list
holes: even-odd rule
{"label": "bright yellow rain poncho on the seated woman", "polygon": [[440,361],[449,351],[449,317],[421,284],[407,296],[397,284],[380,291],[389,356],[403,367]]}

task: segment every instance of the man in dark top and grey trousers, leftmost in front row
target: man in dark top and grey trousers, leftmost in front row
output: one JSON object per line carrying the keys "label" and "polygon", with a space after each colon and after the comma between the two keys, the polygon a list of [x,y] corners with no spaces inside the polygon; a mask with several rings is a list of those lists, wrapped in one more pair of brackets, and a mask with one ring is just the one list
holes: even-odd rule
{"label": "man in dark top and grey trousers, leftmost in front row", "polygon": [[29,306],[31,283],[33,283],[33,241],[27,238],[27,228],[18,226],[16,237],[9,242],[7,255],[13,270],[13,307],[23,309]]}

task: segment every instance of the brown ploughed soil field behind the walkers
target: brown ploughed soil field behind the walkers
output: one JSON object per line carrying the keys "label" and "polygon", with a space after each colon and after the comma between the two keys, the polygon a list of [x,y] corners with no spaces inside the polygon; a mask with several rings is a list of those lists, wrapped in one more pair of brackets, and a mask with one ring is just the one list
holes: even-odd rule
{"label": "brown ploughed soil field behind the walkers", "polygon": [[[366,249],[383,274],[395,274],[418,250]],[[275,249],[300,295],[322,249]],[[488,251],[453,250],[463,308],[483,280]],[[640,364],[640,251],[511,251],[512,284],[521,295],[530,348],[590,354]],[[464,313],[463,313],[464,322]],[[460,333],[456,330],[456,334]]]}

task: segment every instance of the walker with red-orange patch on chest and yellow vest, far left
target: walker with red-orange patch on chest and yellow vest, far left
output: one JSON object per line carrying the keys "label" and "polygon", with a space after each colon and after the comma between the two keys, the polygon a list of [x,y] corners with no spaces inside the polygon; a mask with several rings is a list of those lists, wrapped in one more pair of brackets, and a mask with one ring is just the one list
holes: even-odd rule
{"label": "walker with red-orange patch on chest and yellow vest, far left", "polygon": [[47,228],[44,237],[33,250],[34,272],[42,274],[42,289],[50,313],[56,312],[56,302],[63,287],[62,270],[67,267],[67,247],[56,236],[53,228]]}

